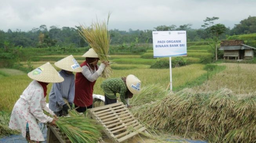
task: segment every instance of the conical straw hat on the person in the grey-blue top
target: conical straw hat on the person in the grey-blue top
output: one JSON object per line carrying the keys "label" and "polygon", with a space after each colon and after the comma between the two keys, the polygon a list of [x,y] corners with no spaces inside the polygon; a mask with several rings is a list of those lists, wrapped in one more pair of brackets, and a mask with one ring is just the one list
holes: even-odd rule
{"label": "conical straw hat on the person in the grey-blue top", "polygon": [[69,55],[60,61],[54,63],[55,66],[62,70],[72,71],[72,72],[82,72],[83,69],[77,63],[76,59],[74,59],[73,55]]}

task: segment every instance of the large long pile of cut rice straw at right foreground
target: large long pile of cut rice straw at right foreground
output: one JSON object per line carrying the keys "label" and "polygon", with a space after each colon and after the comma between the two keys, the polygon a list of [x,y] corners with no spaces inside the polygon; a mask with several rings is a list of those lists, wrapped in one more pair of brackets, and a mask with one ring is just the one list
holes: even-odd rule
{"label": "large long pile of cut rice straw at right foreground", "polygon": [[228,89],[196,93],[183,89],[140,106],[134,114],[154,129],[184,138],[212,143],[256,141],[256,93],[234,95]]}

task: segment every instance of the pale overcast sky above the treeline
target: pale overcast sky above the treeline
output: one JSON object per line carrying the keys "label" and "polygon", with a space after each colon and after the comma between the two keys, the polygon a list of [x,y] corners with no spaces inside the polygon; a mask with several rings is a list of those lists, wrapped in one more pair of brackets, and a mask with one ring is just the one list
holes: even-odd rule
{"label": "pale overcast sky above the treeline", "polygon": [[0,30],[31,30],[40,25],[75,27],[104,20],[109,29],[153,30],[159,25],[191,23],[199,29],[206,17],[233,28],[256,16],[256,0],[0,0]]}

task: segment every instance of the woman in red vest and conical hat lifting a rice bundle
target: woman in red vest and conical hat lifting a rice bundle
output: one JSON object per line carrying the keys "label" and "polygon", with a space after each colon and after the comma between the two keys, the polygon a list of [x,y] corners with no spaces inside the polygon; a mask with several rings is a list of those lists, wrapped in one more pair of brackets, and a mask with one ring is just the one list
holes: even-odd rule
{"label": "woman in red vest and conical hat lifting a rice bundle", "polygon": [[80,64],[83,71],[76,73],[74,95],[74,105],[80,113],[93,107],[93,86],[105,67],[109,66],[108,61],[102,61],[100,66],[97,66],[100,59],[92,48],[82,57],[85,57],[84,63]]}

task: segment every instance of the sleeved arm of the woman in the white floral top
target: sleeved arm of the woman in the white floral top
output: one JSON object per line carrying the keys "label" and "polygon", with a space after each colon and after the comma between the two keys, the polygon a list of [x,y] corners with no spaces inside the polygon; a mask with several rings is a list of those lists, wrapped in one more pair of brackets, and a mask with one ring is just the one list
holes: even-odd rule
{"label": "sleeved arm of the woman in the white floral top", "polygon": [[51,123],[53,121],[53,118],[45,115],[43,109],[41,108],[41,103],[43,102],[44,104],[44,91],[42,89],[38,89],[36,91],[37,92],[32,93],[33,95],[29,105],[30,113],[33,114],[33,116],[42,123]]}

